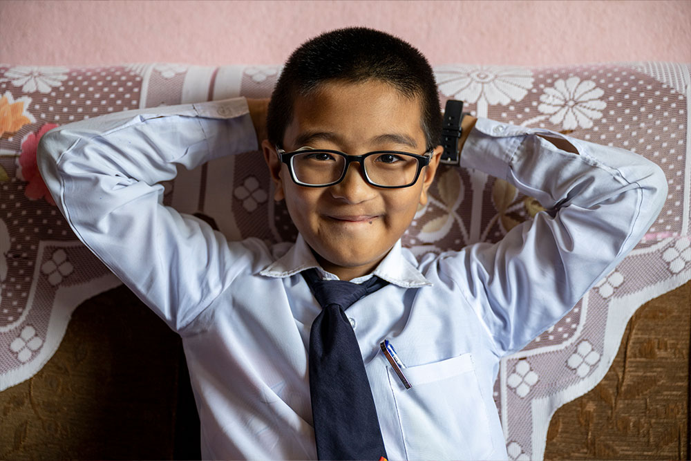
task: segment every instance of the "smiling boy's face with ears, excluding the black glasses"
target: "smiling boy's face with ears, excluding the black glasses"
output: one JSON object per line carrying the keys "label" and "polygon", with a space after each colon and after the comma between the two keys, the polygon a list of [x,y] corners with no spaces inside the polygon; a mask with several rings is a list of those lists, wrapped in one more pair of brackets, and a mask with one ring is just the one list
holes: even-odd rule
{"label": "smiling boy's face with ears, excluding the black glasses", "polygon": [[[422,112],[395,88],[369,80],[322,84],[309,97],[297,97],[292,122],[283,136],[285,151],[309,146],[350,155],[392,150],[422,154],[426,142]],[[276,200],[285,199],[290,217],[325,270],[350,280],[370,272],[403,235],[418,205],[427,202],[442,147],[410,187],[381,189],[365,182],[361,165],[350,164],[337,185],[302,187],[290,178],[274,147],[263,142],[276,183]]]}

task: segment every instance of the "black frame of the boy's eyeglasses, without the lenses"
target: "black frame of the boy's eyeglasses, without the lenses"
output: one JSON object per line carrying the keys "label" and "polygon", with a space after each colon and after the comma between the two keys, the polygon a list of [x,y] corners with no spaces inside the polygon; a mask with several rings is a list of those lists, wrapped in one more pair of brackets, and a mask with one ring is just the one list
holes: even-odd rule
{"label": "black frame of the boy's eyeglasses, without the lenses", "polygon": [[[365,182],[368,183],[370,186],[374,187],[380,187],[381,189],[403,189],[404,187],[410,187],[417,182],[417,180],[420,177],[420,172],[422,169],[428,164],[430,164],[430,160],[432,159],[432,155],[434,153],[434,149],[430,149],[426,151],[424,154],[419,155],[417,153],[410,153],[410,152],[404,152],[404,151],[372,151],[368,153],[363,153],[361,156],[351,156],[348,153],[341,152],[341,151],[332,151],[330,149],[312,149],[312,148],[305,148],[301,147],[300,149],[292,152],[286,152],[283,149],[281,149],[278,146],[276,147],[276,154],[278,154],[278,158],[281,160],[281,162],[285,163],[288,167],[288,171],[290,171],[290,178],[293,180],[293,182],[296,185],[303,186],[303,187],[329,187],[333,185],[337,185],[339,182],[343,181],[345,179],[345,175],[348,174],[348,167],[350,167],[350,164],[353,162],[359,163],[360,167],[363,171],[363,178],[365,178]],[[341,178],[338,180],[335,180],[333,182],[328,182],[327,184],[319,184],[319,185],[314,185],[314,184],[307,184],[306,182],[302,182],[295,176],[295,170],[293,168],[292,164],[292,158],[300,153],[306,153],[306,152],[325,152],[325,153],[332,153],[337,156],[341,156],[345,158],[345,167],[343,167],[343,174],[341,174]],[[413,157],[417,159],[417,171],[415,171],[415,178],[413,178],[413,181],[409,182],[406,185],[402,186],[382,186],[377,184],[376,182],[372,182],[370,180],[370,177],[367,174],[367,168],[365,167],[365,159],[370,157],[370,156],[375,156],[375,155],[381,155],[383,153],[390,153],[393,155],[405,155],[409,157]]]}

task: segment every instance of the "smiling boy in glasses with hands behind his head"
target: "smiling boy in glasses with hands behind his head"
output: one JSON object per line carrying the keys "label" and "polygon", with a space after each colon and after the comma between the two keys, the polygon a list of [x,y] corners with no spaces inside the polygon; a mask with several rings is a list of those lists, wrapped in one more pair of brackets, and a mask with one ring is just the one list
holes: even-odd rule
{"label": "smiling boy in glasses with hands behind his head", "polygon": [[[547,211],[495,245],[417,261],[400,237],[426,203],[442,149],[433,73],[415,48],[374,30],[328,32],[288,60],[267,140],[261,104],[249,104],[86,120],[45,135],[39,154],[77,236],[182,336],[202,457],[507,459],[491,397],[501,357],[636,245],[663,205],[661,170],[620,149],[466,116],[462,164]],[[257,143],[300,232],[294,244],[228,242],[160,205],[158,182],[176,164]],[[381,283],[350,307],[322,307],[320,279],[359,284],[348,292]],[[338,340],[350,352],[356,341],[352,368],[323,359],[325,312],[350,334]],[[357,366],[365,383],[354,388]],[[331,375],[331,392],[319,373]],[[334,395],[347,398],[339,406]],[[375,416],[361,419],[368,402]]]}

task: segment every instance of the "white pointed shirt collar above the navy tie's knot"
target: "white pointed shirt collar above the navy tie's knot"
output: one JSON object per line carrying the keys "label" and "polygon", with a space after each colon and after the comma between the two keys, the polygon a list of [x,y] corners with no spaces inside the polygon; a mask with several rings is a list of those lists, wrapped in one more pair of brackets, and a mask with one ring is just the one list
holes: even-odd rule
{"label": "white pointed shirt collar above the navy tie's knot", "polygon": [[[401,288],[420,288],[427,285],[432,285],[425,276],[417,270],[417,267],[413,265],[409,258],[415,258],[410,252],[404,254],[404,250],[401,247],[401,241],[396,242],[388,254],[381,260],[381,263],[377,265],[375,270],[371,274],[366,274],[357,279],[353,279],[353,283],[362,283],[367,279],[370,279],[372,275],[378,276],[380,279],[384,279],[389,283],[398,285]],[[274,277],[283,279],[284,277],[290,277],[294,274],[299,274],[303,270],[310,268],[316,268],[316,270],[321,275],[324,280],[338,280],[338,276],[327,272],[321,268],[319,263],[314,258],[310,246],[307,245],[305,239],[301,234],[298,234],[298,238],[295,244],[290,247],[283,256],[278,258],[273,263],[267,265],[263,270],[259,272],[260,275],[267,277]]]}

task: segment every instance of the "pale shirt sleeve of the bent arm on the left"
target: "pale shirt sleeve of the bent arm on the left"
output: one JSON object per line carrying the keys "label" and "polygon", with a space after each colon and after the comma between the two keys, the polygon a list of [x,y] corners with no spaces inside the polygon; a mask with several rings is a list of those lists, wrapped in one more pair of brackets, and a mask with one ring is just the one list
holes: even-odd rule
{"label": "pale shirt sleeve of the bent arm on the left", "polygon": [[179,165],[192,169],[256,149],[247,102],[237,98],[60,126],[41,138],[38,162],[77,237],[180,330],[227,287],[252,252],[162,205],[160,182],[175,178]]}

